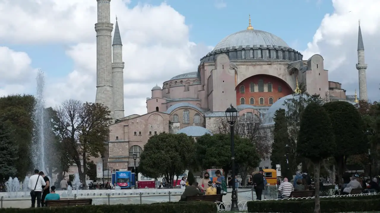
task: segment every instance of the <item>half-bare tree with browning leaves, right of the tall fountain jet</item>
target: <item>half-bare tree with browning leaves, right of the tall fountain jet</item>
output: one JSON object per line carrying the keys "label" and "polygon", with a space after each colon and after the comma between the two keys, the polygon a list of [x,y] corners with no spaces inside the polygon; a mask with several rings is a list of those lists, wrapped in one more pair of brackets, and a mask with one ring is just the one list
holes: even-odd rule
{"label": "half-bare tree with browning leaves, right of the tall fountain jet", "polygon": [[87,161],[103,153],[112,118],[108,107],[100,103],[66,100],[57,111],[57,130],[70,158],[78,167],[82,182],[86,181]]}

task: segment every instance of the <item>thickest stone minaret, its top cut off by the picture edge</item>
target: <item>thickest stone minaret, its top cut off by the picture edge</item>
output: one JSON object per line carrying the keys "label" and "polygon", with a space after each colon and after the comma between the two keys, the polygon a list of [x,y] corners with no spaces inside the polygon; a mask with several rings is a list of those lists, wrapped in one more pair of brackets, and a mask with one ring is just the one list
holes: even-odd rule
{"label": "thickest stone minaret, its top cut off by the picture edge", "polygon": [[114,100],[112,96],[112,29],[110,22],[111,0],[97,0],[98,23],[96,31],[96,98],[95,103],[103,103],[111,111],[114,118]]}

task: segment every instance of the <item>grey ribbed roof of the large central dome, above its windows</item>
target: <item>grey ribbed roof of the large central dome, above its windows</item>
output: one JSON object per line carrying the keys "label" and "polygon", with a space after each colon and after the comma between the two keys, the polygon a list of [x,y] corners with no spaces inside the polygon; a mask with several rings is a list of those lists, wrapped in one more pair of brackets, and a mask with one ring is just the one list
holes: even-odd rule
{"label": "grey ribbed roof of the large central dome, above its windows", "polygon": [[253,45],[271,45],[289,47],[289,45],[281,38],[272,33],[261,30],[242,30],[237,33],[230,34],[222,41],[220,41],[214,50],[223,48],[238,47],[238,46],[252,46]]}

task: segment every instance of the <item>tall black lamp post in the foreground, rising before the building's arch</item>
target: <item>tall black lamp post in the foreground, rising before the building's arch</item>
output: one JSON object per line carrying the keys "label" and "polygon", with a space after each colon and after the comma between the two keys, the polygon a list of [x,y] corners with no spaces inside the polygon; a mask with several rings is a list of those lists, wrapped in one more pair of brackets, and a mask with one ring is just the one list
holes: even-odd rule
{"label": "tall black lamp post in the foreground, rising before the building's arch", "polygon": [[[232,104],[226,110],[226,119],[227,119],[227,122],[230,124],[232,177],[235,178],[236,171],[235,171],[234,124],[237,119],[237,110],[232,106]],[[232,201],[231,211],[238,211],[239,208],[237,207],[237,193],[236,193],[235,184],[232,184],[231,201]]]}

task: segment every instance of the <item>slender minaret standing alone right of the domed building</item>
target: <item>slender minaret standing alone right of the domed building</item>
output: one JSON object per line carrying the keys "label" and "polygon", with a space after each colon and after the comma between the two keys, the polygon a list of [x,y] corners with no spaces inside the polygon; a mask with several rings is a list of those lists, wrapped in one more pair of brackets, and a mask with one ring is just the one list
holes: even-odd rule
{"label": "slender minaret standing alone right of the domed building", "polygon": [[359,20],[359,34],[358,34],[358,63],[356,69],[359,71],[359,99],[368,100],[367,94],[367,77],[366,69],[367,64],[364,62],[364,44],[363,37],[361,36],[360,20]]}

